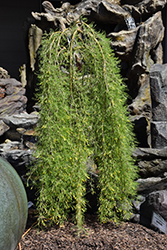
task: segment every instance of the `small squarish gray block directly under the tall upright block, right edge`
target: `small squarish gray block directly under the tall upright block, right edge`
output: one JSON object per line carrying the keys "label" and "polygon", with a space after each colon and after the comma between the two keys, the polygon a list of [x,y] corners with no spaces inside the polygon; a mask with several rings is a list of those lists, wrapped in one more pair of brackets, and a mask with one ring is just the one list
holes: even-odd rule
{"label": "small squarish gray block directly under the tall upright block, right edge", "polygon": [[153,148],[167,147],[167,121],[151,122],[151,145]]}

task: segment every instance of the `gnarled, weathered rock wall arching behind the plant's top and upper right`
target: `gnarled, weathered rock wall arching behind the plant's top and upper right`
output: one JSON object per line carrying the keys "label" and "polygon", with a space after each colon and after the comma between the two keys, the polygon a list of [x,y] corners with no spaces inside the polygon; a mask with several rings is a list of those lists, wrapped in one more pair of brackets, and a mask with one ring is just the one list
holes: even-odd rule
{"label": "gnarled, weathered rock wall arching behind the plant's top and upper right", "polygon": [[38,67],[36,54],[43,32],[50,28],[64,30],[71,22],[85,16],[88,22],[96,24],[97,29],[106,32],[111,48],[120,59],[121,73],[129,91],[128,109],[139,146],[151,146],[149,78],[151,66],[163,63],[162,10],[165,4],[166,0],[86,0],[75,6],[65,2],[60,8],[55,8],[50,2],[44,1],[42,5],[45,12],[32,12],[34,23],[30,24],[29,29],[29,100],[34,92],[34,71]]}

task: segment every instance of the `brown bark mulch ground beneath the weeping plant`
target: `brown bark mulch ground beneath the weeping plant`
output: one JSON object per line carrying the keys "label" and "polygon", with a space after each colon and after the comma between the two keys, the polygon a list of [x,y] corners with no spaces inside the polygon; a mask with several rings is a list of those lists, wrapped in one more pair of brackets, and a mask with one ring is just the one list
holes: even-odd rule
{"label": "brown bark mulch ground beneath the weeping plant", "polygon": [[87,215],[80,237],[70,220],[63,227],[52,226],[47,230],[38,229],[34,222],[35,217],[29,214],[25,234],[15,250],[167,249],[167,235],[131,222],[100,224],[96,216]]}

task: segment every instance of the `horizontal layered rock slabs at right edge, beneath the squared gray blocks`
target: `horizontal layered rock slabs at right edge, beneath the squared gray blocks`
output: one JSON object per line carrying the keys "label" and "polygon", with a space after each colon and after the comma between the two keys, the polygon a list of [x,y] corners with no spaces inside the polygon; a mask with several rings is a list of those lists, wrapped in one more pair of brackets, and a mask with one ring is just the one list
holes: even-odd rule
{"label": "horizontal layered rock slabs at right edge, beneath the squared gray blocks", "polygon": [[167,148],[138,148],[133,152],[139,169],[138,192],[150,192],[167,188]]}

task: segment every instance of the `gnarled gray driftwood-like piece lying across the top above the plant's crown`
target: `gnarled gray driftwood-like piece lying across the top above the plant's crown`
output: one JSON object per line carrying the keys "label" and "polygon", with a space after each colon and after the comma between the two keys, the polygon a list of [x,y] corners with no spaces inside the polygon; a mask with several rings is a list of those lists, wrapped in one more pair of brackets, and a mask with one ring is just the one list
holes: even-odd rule
{"label": "gnarled gray driftwood-like piece lying across the top above the plant's crown", "polygon": [[63,3],[61,8],[54,8],[53,5],[44,1],[42,3],[46,13],[32,12],[37,21],[52,22],[55,27],[64,30],[67,25],[78,20],[81,16],[93,16],[93,19],[107,24],[121,23],[126,25],[129,12],[120,5],[107,1],[86,0],[76,6],[70,3]]}

